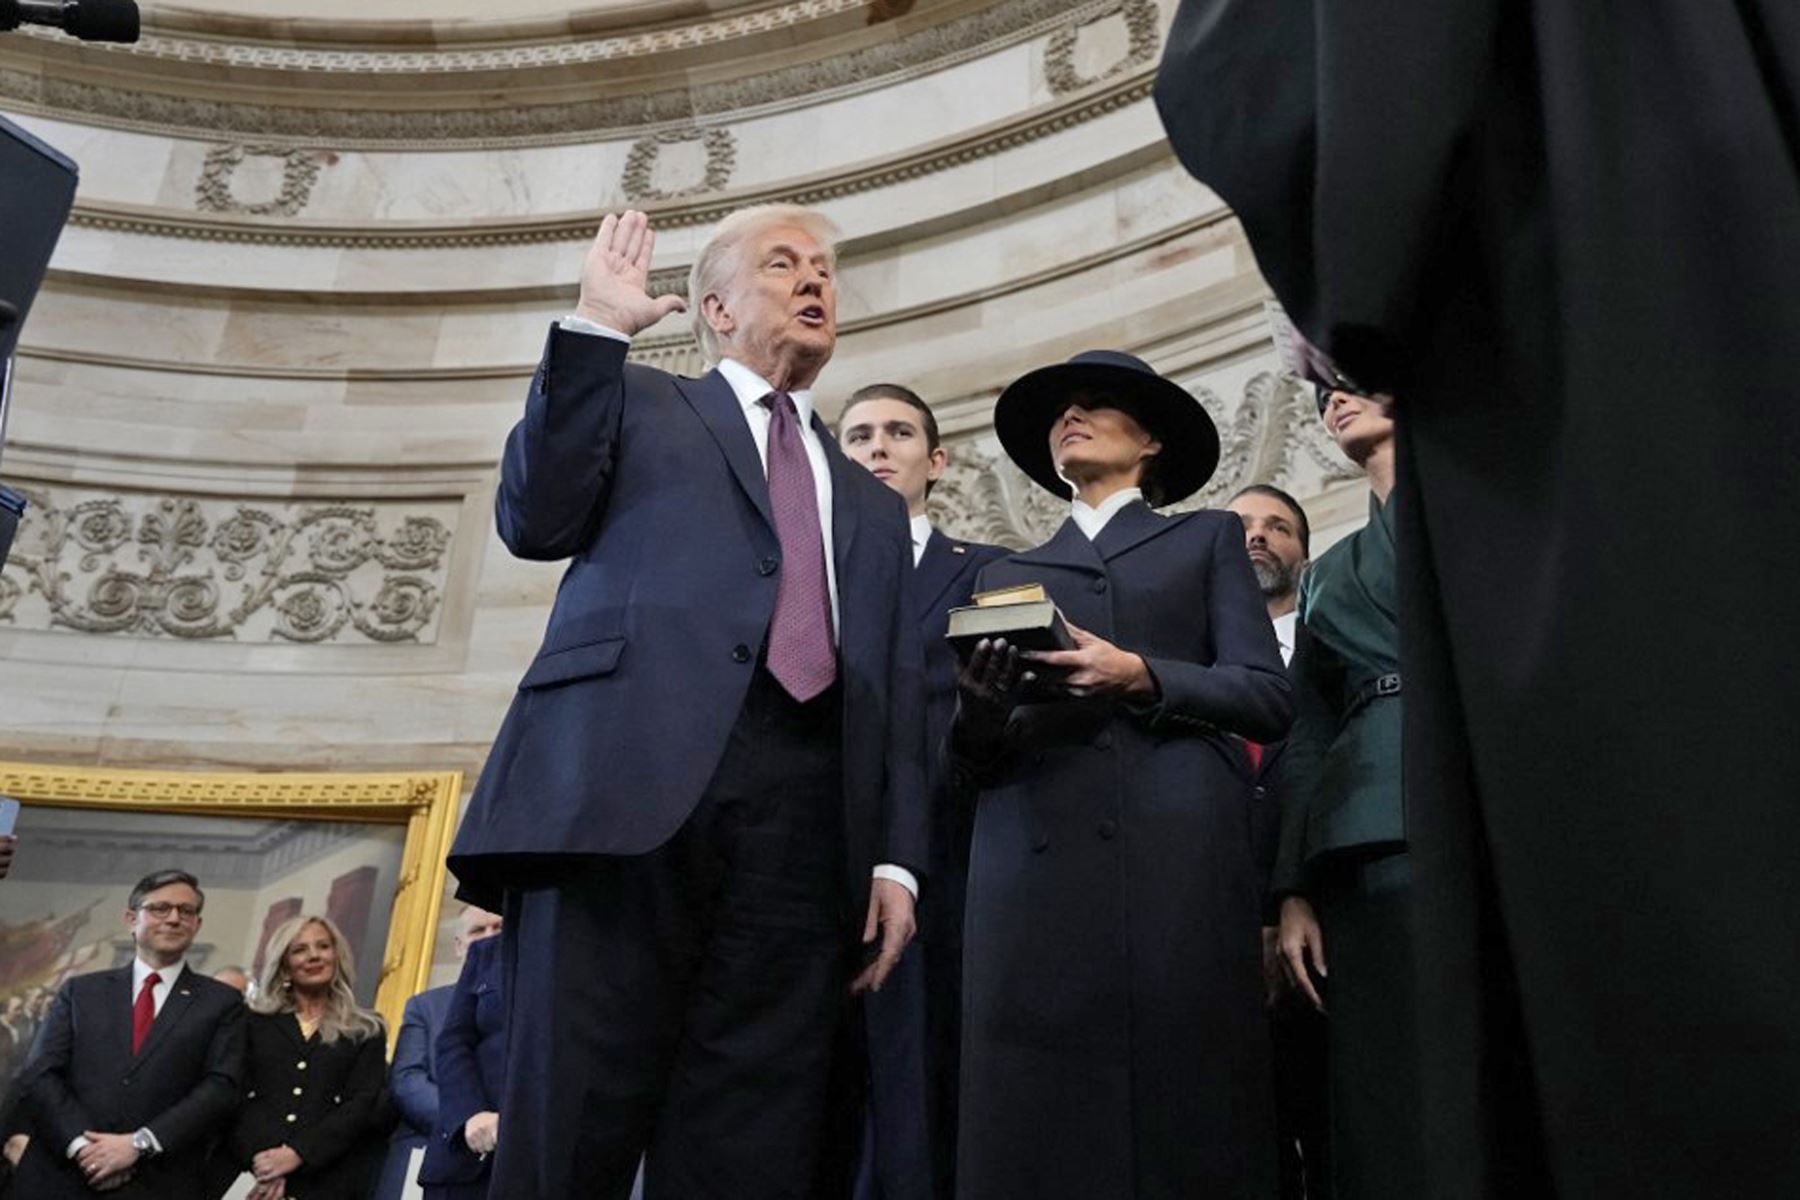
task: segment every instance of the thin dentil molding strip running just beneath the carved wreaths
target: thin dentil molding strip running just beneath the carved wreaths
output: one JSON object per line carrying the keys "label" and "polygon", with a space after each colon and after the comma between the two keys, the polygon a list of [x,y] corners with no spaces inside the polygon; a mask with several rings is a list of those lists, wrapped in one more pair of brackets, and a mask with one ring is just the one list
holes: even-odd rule
{"label": "thin dentil molding strip running just beneath the carved wreaths", "polygon": [[[4,74],[4,72],[0,72]],[[787,180],[767,187],[745,187],[702,200],[650,200],[646,209],[659,228],[711,225],[734,209],[783,200],[819,205],[842,196],[907,184],[940,171],[1030,146],[1046,137],[1098,121],[1150,97],[1156,79],[1145,72],[1100,88],[1080,101],[1033,113],[997,130],[983,130],[949,146],[934,146],[859,171]],[[1166,151],[1165,151],[1166,153]],[[333,246],[367,250],[430,250],[464,246],[518,246],[547,241],[587,241],[605,210],[563,212],[524,221],[463,221],[457,225],[412,225],[389,228],[353,228],[344,225],[277,225],[252,221],[238,214],[182,214],[137,205],[77,203],[68,223],[115,234],[148,237],[185,237],[196,241],[250,243],[275,246]]]}

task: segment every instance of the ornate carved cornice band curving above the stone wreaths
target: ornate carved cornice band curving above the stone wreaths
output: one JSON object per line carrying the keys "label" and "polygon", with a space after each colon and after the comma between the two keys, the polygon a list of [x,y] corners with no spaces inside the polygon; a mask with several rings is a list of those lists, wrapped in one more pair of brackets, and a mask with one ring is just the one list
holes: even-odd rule
{"label": "ornate carved cornice band curving above the stone wreaths", "polygon": [[[1109,4],[1116,4],[1116,0],[1085,0],[1073,16],[1082,20],[1087,13],[1102,11]],[[740,20],[752,16],[756,14],[745,14]],[[554,61],[500,68],[513,76],[506,86],[491,83],[477,86],[466,77],[466,72],[452,72],[430,85],[434,90],[443,88],[445,108],[421,108],[418,104],[392,108],[385,90],[335,92],[338,101],[358,97],[362,103],[356,104],[304,106],[261,101],[261,95],[270,88],[304,94],[306,79],[281,77],[283,74],[317,74],[304,68],[283,70],[275,67],[277,74],[270,79],[247,76],[241,79],[243,85],[261,86],[254,94],[247,92],[243,99],[229,99],[220,97],[216,90],[209,95],[169,92],[166,88],[185,86],[185,81],[173,77],[146,76],[142,86],[137,88],[119,86],[117,72],[95,76],[92,81],[77,79],[56,74],[56,65],[41,61],[29,63],[29,70],[0,67],[0,101],[7,103],[9,108],[36,115],[205,140],[437,151],[553,146],[637,137],[659,131],[659,128],[689,124],[697,117],[745,115],[751,110],[774,112],[891,88],[945,67],[1040,38],[1067,20],[1071,20],[1067,0],[1001,0],[992,7],[941,25],[929,25],[905,38],[877,41],[810,63],[761,70],[736,79],[569,103],[529,104],[520,101],[522,95],[529,95],[531,83],[518,72],[527,72],[533,67],[563,68],[562,63]],[[212,43],[203,45],[211,47]],[[131,54],[135,49],[106,47],[94,52],[104,59],[113,54]],[[544,54],[551,49],[554,47],[515,47],[515,52]],[[347,52],[331,50],[328,54]],[[4,61],[0,56],[0,63]],[[250,72],[248,67],[239,70]],[[421,86],[434,76],[443,76],[443,72],[419,72]],[[652,74],[650,77],[666,76]],[[238,85],[239,79],[232,83]],[[560,83],[563,88],[567,86],[567,81]],[[491,94],[493,101],[481,108],[448,108],[448,104],[468,104],[472,92]]]}

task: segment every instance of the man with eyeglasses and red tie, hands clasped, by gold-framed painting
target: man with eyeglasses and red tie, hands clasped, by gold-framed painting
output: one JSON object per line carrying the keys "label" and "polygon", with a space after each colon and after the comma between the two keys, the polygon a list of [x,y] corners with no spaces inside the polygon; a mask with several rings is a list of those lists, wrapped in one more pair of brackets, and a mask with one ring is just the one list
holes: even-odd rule
{"label": "man with eyeglasses and red tie, hands clasped, by gold-framed painting", "polygon": [[202,1195],[207,1146],[243,1085],[245,1047],[243,997],[185,963],[203,907],[185,871],[144,876],[124,910],[135,959],[56,993],[25,1065],[32,1139],[18,1195]]}

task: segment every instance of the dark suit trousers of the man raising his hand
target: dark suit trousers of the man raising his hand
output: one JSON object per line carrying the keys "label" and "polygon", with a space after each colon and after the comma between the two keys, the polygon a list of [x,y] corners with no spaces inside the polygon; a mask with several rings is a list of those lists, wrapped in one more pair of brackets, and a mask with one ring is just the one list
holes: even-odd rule
{"label": "dark suit trousers of the man raising his hand", "polygon": [[623,1200],[644,1153],[646,1200],[817,1193],[853,927],[841,729],[837,689],[799,705],[758,669],[670,842],[508,891],[491,1200]]}

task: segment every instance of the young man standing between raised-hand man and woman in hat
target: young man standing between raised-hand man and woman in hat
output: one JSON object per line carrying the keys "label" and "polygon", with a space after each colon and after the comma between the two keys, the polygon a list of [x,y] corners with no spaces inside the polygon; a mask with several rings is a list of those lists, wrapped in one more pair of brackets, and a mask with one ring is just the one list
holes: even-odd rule
{"label": "young man standing between raised-hand man and woman in hat", "polygon": [[[907,959],[871,997],[878,1031],[873,1061],[873,1153],[859,1196],[911,1200],[956,1195],[956,1088],[963,1004],[963,892],[974,795],[945,770],[956,716],[956,651],[945,640],[950,610],[967,604],[983,565],[1004,547],[958,542],[932,529],[927,498],[949,470],[938,417],[911,389],[857,389],[837,421],[844,453],[907,504],[913,525],[913,615],[925,653],[925,761],[931,784],[931,892],[922,910],[923,954]],[[882,1036],[887,1034],[887,1036]]]}

